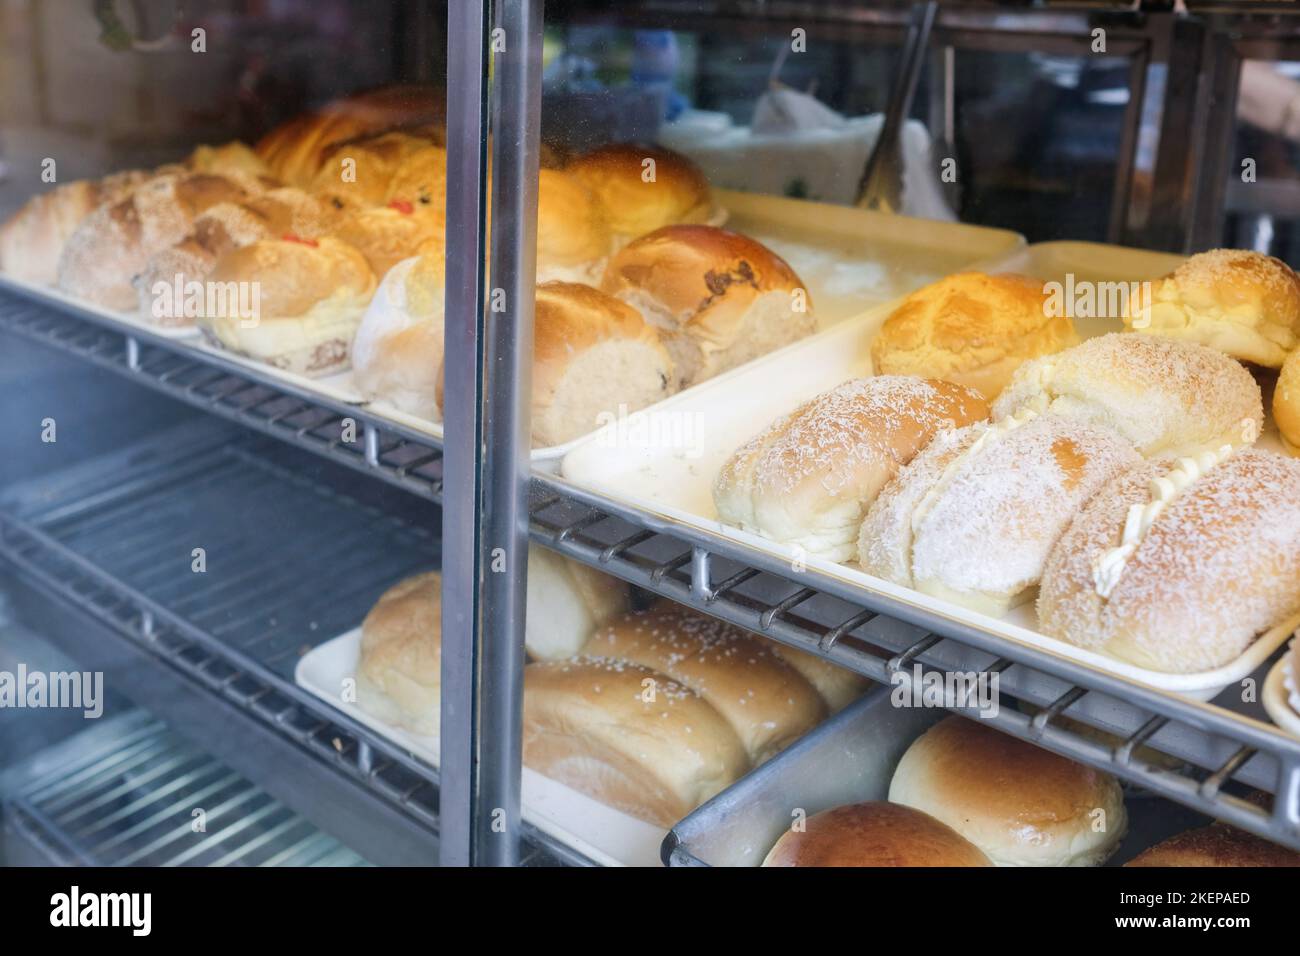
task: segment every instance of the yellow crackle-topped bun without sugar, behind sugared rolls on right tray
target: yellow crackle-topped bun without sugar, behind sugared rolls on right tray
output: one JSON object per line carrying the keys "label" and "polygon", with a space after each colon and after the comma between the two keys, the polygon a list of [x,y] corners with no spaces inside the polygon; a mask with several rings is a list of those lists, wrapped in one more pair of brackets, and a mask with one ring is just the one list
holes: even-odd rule
{"label": "yellow crackle-topped bun without sugar, behind sugared rolls on right tray", "polygon": [[942,378],[992,402],[1022,362],[1078,342],[1067,315],[1049,315],[1043,282],[959,272],[904,299],[871,342],[871,362],[876,375]]}

